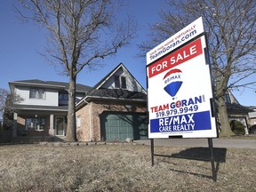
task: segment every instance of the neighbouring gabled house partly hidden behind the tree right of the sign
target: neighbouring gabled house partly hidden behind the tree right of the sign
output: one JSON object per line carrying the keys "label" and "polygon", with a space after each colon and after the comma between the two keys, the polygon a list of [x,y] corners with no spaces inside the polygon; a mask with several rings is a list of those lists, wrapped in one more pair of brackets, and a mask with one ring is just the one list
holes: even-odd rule
{"label": "neighbouring gabled house partly hidden behind the tree right of the sign", "polygon": [[251,126],[249,114],[253,112],[252,108],[240,105],[230,91],[227,92],[225,100],[229,121],[236,120],[243,123],[245,126],[245,134],[248,134],[248,128]]}

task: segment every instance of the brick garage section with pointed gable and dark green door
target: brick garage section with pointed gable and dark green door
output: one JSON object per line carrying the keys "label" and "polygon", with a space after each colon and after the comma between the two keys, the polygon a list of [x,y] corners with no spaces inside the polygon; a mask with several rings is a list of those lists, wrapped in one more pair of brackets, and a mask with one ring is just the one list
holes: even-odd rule
{"label": "brick garage section with pointed gable and dark green door", "polygon": [[147,93],[120,63],[76,104],[80,141],[148,138]]}

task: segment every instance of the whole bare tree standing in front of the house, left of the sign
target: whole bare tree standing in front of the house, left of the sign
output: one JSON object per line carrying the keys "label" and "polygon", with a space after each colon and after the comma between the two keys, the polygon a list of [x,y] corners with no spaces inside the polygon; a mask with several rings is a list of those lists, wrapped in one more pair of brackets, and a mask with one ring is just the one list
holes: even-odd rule
{"label": "whole bare tree standing in front of the house, left of the sign", "polygon": [[[49,32],[46,56],[63,65],[69,77],[66,140],[76,140],[76,76],[85,67],[99,65],[128,44],[135,32],[128,18],[117,24],[117,0],[20,0],[34,20]],[[28,12],[27,12],[28,13]],[[49,57],[48,57],[49,58]]]}

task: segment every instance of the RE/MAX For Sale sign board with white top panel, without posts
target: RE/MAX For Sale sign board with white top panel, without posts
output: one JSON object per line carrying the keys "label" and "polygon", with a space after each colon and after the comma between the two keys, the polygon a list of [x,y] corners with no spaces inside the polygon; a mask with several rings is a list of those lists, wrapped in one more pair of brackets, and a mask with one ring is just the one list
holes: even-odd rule
{"label": "RE/MAX For Sale sign board with white top panel, without posts", "polygon": [[217,137],[199,18],[147,53],[148,138]]}

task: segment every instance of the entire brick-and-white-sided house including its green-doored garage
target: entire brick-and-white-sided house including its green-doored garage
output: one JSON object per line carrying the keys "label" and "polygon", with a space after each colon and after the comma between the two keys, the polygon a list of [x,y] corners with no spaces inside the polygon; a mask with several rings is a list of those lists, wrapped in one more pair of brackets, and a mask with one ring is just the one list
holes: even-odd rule
{"label": "entire brick-and-white-sided house including its green-doored garage", "polygon": [[[11,92],[22,99],[13,105],[12,138],[65,139],[67,83],[25,80],[9,85]],[[148,138],[147,92],[123,63],[93,87],[76,84],[76,99],[79,141]]]}

